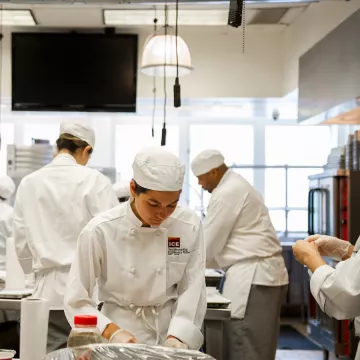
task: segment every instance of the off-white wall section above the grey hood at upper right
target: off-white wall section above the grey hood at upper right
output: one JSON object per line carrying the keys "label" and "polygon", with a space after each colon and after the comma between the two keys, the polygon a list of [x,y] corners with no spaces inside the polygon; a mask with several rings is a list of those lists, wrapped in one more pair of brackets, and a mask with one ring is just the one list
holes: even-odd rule
{"label": "off-white wall section above the grey hood at upper right", "polygon": [[298,86],[299,57],[360,8],[360,0],[311,4],[282,34],[283,94]]}

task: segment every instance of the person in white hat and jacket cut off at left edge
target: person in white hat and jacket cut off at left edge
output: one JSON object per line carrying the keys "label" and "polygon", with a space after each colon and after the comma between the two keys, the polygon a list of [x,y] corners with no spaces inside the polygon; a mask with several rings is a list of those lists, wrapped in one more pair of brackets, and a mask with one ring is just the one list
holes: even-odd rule
{"label": "person in white hat and jacket cut off at left edge", "polygon": [[0,270],[6,266],[6,241],[13,234],[13,212],[9,204],[11,196],[15,192],[15,183],[11,177],[0,177]]}

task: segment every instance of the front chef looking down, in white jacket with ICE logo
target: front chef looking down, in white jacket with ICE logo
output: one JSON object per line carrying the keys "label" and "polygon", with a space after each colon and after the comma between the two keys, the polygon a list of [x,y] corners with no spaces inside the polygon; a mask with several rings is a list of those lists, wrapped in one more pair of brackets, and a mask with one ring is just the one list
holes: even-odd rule
{"label": "front chef looking down, in white jacket with ICE logo", "polygon": [[[184,174],[162,147],[136,155],[131,200],[80,234],[65,296],[72,325],[74,315],[95,314],[110,343],[201,347],[205,248],[200,218],[177,206]],[[96,283],[101,312],[91,299]]]}

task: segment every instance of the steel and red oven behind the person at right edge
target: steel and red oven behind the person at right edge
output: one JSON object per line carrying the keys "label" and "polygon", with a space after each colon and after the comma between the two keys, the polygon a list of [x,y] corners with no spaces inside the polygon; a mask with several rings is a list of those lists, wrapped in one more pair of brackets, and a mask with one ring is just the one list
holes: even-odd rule
{"label": "steel and red oven behind the person at right edge", "polygon": [[[309,177],[309,235],[331,235],[354,243],[360,235],[359,214],[360,172],[337,171]],[[336,265],[331,259],[325,260],[330,266]],[[353,355],[357,343],[348,331],[349,321],[327,316],[309,294],[309,336],[337,356]]]}

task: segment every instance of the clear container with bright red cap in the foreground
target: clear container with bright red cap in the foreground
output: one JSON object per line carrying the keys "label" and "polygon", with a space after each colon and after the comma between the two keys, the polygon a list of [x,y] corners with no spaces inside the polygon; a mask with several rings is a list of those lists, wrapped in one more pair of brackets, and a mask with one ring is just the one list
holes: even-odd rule
{"label": "clear container with bright red cap in the foreground", "polygon": [[76,315],[74,325],[68,338],[68,347],[103,343],[103,338],[97,328],[97,316]]}

